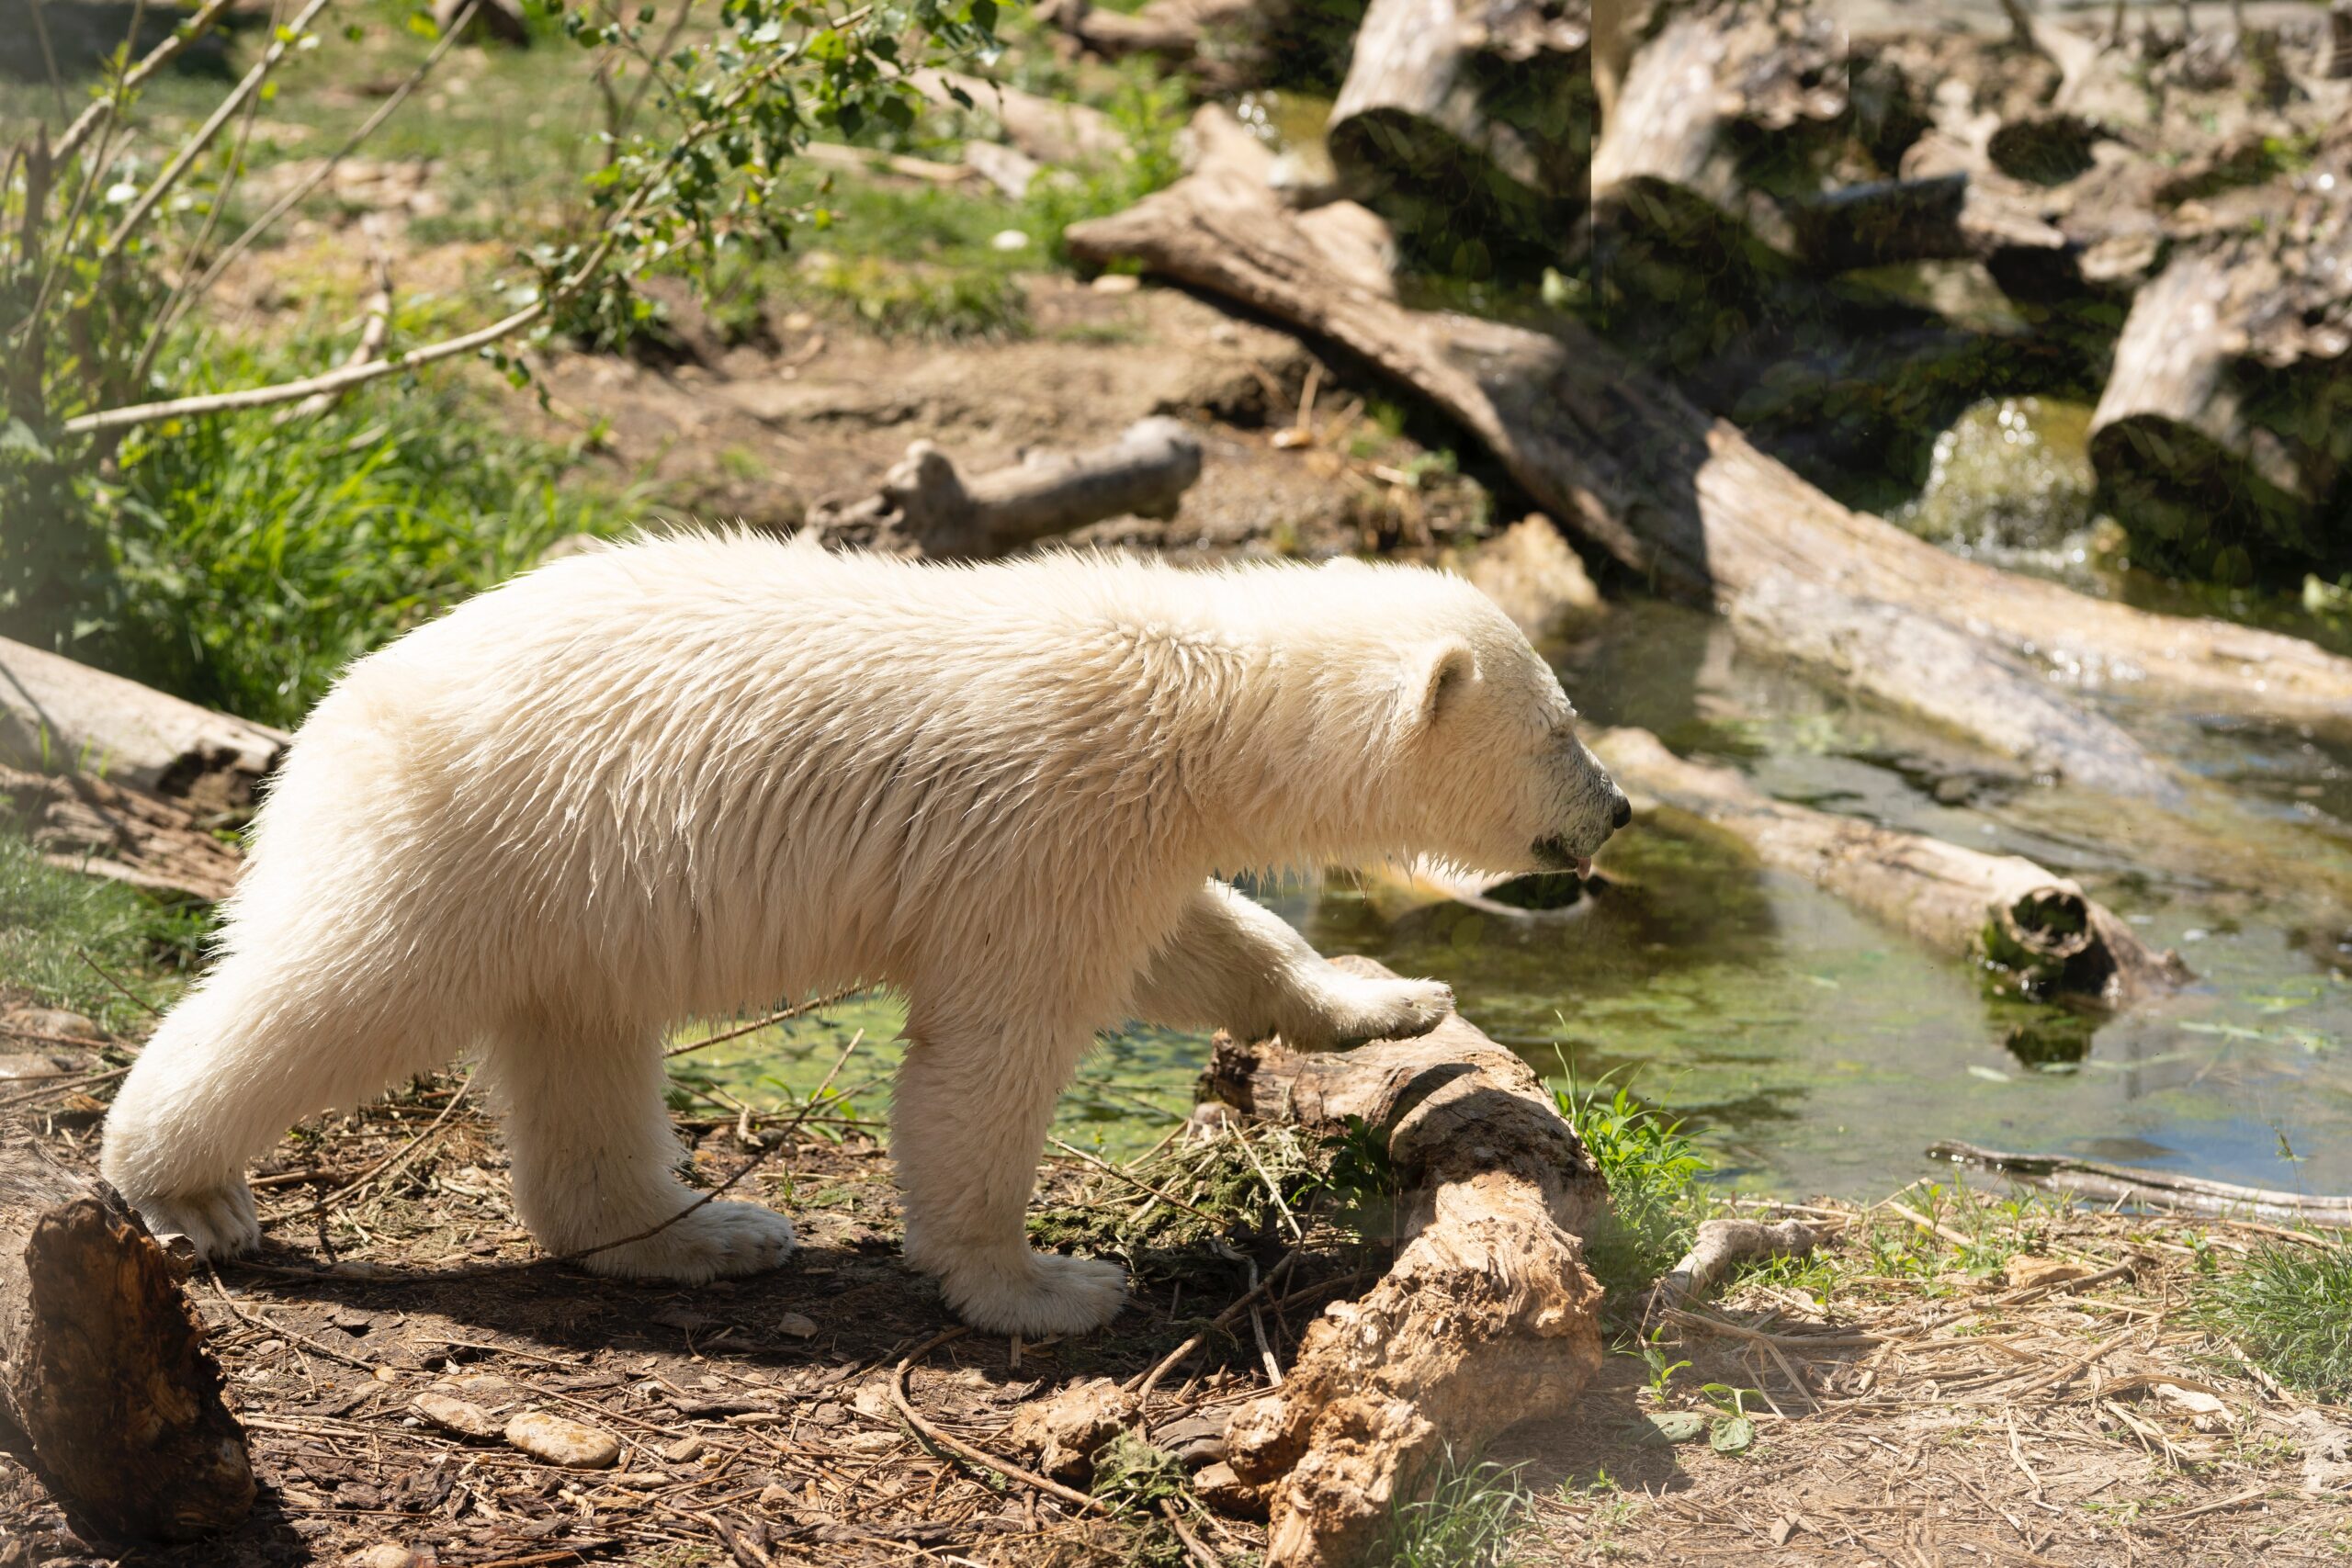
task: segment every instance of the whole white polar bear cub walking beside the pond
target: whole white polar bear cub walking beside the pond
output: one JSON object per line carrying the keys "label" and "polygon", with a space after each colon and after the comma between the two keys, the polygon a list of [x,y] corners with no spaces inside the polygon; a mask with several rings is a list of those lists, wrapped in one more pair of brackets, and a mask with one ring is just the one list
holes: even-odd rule
{"label": "whole white polar bear cub walking beside the pond", "polygon": [[[1096,1030],[1338,1046],[1451,1006],[1211,872],[1576,865],[1628,809],[1573,717],[1501,611],[1409,567],[579,555],[358,661],[301,726],[106,1175],[205,1255],[249,1248],[242,1171],[292,1121],[477,1051],[515,1208],[574,1253],[694,1204],[668,1025],[889,983],[908,1262],[981,1328],[1096,1328],[1120,1269],[1021,1222]],[[694,1284],[790,1248],[783,1215],[706,1204],[586,1265]]]}

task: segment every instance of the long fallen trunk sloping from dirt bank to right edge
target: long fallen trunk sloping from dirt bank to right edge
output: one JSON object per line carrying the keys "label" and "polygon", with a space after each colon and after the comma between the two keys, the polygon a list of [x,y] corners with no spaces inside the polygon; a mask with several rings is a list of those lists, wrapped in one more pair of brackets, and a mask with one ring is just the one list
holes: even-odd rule
{"label": "long fallen trunk sloping from dirt bank to right edge", "polygon": [[1729,611],[1785,571],[2077,679],[2352,729],[2352,661],[2296,637],[2089,599],[1851,512],[1581,327],[1409,310],[1343,275],[1247,162],[1204,162],[1129,212],[1070,226],[1065,240],[1084,259],[1134,256],[1343,343],[1458,418],[1538,505],[1672,597]]}

